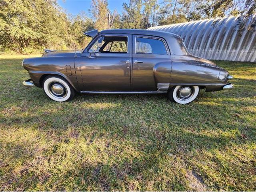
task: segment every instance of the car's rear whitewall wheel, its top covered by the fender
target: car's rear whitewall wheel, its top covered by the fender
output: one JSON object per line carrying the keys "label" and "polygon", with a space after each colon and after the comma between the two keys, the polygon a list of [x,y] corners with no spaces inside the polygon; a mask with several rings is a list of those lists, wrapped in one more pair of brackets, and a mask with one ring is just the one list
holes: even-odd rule
{"label": "car's rear whitewall wheel, its top covered by the fender", "polygon": [[188,104],[196,99],[199,93],[198,86],[175,86],[168,92],[168,98],[172,102]]}

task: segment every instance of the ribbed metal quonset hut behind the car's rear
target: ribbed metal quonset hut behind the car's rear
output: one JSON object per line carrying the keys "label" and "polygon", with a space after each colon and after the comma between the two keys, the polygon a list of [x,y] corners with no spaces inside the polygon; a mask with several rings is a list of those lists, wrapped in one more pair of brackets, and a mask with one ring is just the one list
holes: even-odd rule
{"label": "ribbed metal quonset hut behind the car's rear", "polygon": [[256,62],[256,15],[248,19],[245,30],[238,31],[239,17],[207,19],[156,26],[148,30],[171,32],[181,36],[188,51],[212,60]]}

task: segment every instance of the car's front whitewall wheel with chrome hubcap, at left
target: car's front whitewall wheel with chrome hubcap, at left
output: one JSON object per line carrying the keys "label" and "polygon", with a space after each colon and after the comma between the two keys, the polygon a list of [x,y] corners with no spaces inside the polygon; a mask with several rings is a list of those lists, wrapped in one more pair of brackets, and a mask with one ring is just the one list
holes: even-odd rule
{"label": "car's front whitewall wheel with chrome hubcap, at left", "polygon": [[43,88],[48,97],[58,102],[69,101],[75,95],[73,87],[60,76],[47,76],[44,78]]}

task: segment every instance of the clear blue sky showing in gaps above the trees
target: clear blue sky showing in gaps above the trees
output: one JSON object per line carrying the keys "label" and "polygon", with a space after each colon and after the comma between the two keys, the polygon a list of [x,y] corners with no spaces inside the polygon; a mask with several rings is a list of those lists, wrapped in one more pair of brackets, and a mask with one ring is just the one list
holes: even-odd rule
{"label": "clear blue sky showing in gaps above the trees", "polygon": [[[122,13],[123,2],[128,2],[128,0],[108,0],[108,8],[112,11],[116,8],[119,13]],[[58,4],[73,15],[84,11],[89,16],[88,9],[90,9],[91,5],[90,0],[58,0]]]}

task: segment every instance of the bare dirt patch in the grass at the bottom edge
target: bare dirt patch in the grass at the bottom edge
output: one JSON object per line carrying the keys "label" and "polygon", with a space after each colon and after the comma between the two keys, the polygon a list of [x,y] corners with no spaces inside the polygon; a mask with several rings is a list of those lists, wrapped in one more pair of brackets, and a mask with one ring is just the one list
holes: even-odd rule
{"label": "bare dirt patch in the grass at the bottom edge", "polygon": [[193,191],[206,191],[207,186],[204,184],[202,177],[196,174],[194,171],[189,171],[186,173],[186,178],[189,181],[188,186]]}

